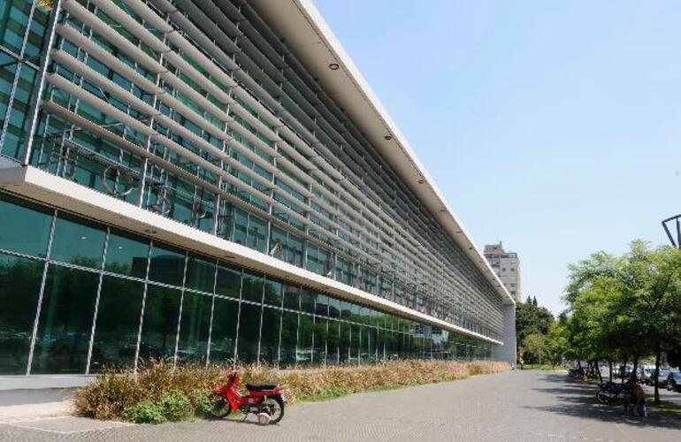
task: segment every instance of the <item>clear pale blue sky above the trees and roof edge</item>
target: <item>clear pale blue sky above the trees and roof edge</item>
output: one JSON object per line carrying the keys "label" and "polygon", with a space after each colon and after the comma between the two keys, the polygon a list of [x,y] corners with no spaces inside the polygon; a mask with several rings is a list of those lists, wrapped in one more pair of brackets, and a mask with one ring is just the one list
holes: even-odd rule
{"label": "clear pale blue sky above the trees and roof edge", "polygon": [[473,240],[555,314],[567,266],[681,212],[677,2],[316,0]]}

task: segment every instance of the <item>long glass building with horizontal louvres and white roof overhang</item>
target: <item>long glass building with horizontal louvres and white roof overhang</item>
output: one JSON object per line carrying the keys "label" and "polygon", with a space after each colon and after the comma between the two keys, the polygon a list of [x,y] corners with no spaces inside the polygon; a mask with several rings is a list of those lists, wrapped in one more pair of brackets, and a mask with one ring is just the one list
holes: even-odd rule
{"label": "long glass building with horizontal louvres and white roof overhang", "polygon": [[309,0],[2,8],[0,374],[514,360],[514,301]]}

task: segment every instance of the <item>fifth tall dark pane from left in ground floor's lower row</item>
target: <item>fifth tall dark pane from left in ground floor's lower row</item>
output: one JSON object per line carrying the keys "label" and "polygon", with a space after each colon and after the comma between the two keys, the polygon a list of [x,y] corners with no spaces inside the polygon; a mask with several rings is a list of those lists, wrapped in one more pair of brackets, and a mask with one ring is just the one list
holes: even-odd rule
{"label": "fifth tall dark pane from left in ground floor's lower row", "polygon": [[185,292],[178,362],[206,362],[212,296]]}

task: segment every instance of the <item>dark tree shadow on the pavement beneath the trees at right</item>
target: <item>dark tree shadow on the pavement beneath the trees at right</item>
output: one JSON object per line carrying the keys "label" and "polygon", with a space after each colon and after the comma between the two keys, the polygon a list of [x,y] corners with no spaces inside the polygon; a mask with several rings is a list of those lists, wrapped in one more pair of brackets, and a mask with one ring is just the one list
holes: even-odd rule
{"label": "dark tree shadow on the pavement beneath the trees at right", "polygon": [[[657,410],[648,408],[648,416],[645,419],[624,415],[622,400],[613,404],[602,405],[596,401],[598,385],[587,384],[581,381],[570,380],[565,375],[547,375],[543,381],[554,382],[562,386],[551,388],[535,388],[535,392],[551,394],[558,404],[547,407],[524,408],[546,411],[558,415],[567,415],[582,419],[595,419],[605,422],[623,423],[636,427],[661,427],[681,430],[681,419],[664,415]],[[648,400],[651,400],[648,398]]]}

